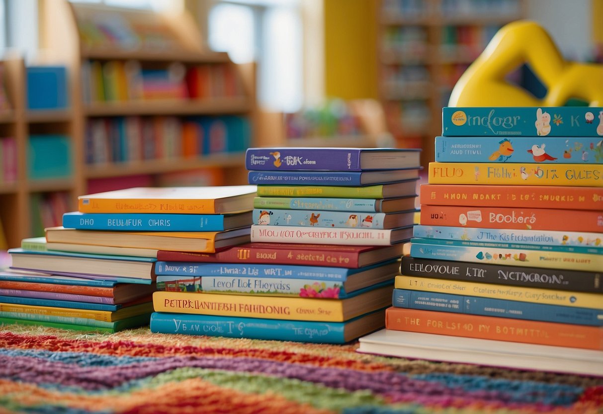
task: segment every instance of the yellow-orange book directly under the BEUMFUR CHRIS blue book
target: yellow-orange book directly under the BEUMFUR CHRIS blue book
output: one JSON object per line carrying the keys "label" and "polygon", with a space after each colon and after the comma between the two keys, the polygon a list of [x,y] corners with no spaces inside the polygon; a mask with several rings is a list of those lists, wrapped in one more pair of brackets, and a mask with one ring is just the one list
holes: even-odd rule
{"label": "yellow-orange book directly under the BEUMFUR CHRIS blue book", "polygon": [[46,229],[46,240],[49,243],[213,253],[218,247],[247,243],[249,232],[248,227],[223,232],[109,232],[53,227]]}

